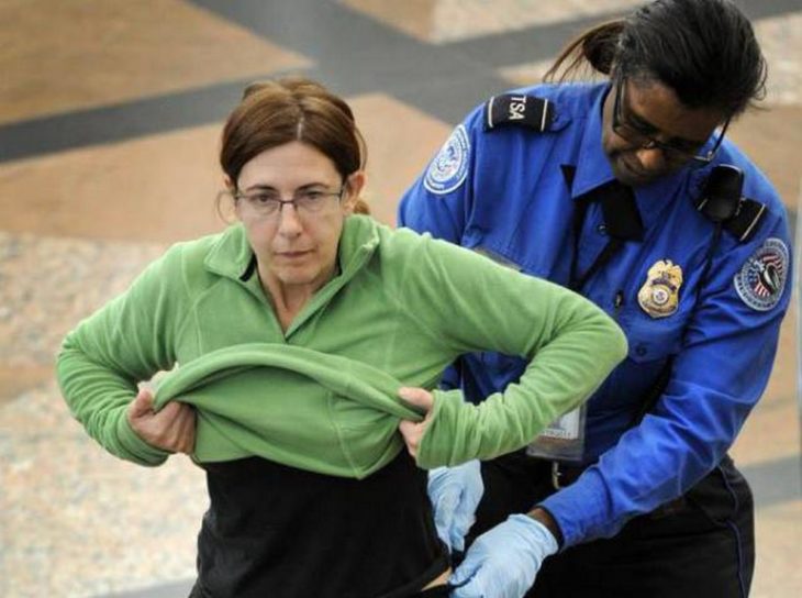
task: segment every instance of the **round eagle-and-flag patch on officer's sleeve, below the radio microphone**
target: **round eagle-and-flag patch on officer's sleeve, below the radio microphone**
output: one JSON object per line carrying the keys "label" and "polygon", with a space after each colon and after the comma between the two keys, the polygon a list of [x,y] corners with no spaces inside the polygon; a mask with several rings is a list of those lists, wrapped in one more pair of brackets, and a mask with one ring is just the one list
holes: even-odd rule
{"label": "round eagle-and-flag patch on officer's sleeve, below the radio microphone", "polygon": [[757,311],[768,311],[782,297],[788,279],[788,246],[767,239],[733,278],[738,297]]}

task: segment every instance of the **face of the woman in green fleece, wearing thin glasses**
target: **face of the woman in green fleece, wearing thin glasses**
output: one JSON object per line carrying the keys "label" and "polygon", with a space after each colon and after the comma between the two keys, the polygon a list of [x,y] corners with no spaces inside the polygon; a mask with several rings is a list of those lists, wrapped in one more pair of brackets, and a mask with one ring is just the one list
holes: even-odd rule
{"label": "face of the woman in green fleece, wearing thin glasses", "polygon": [[[297,141],[245,164],[236,181],[236,214],[263,286],[274,294],[311,295],[328,281],[343,222],[363,182],[361,173],[343,181],[327,156]],[[288,202],[293,199],[299,202]]]}

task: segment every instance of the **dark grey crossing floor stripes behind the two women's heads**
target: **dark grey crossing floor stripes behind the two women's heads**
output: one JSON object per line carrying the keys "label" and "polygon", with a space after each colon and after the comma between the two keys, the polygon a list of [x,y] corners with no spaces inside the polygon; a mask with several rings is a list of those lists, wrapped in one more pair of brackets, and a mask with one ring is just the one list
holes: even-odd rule
{"label": "dark grey crossing floor stripes behind the two women's heads", "polygon": [[[449,123],[458,122],[483,98],[509,87],[497,75],[497,67],[552,56],[584,26],[617,14],[433,45],[338,2],[194,3],[312,58],[318,66],[304,73],[342,95],[388,93]],[[749,0],[740,4],[753,18],[802,10],[802,0]],[[234,106],[245,82],[213,85],[1,125],[0,163],[219,122]]]}

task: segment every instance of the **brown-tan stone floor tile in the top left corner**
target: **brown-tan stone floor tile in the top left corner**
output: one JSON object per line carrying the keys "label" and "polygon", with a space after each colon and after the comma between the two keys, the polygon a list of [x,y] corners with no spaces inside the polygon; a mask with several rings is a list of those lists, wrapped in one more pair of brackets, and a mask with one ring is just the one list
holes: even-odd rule
{"label": "brown-tan stone floor tile in the top left corner", "polygon": [[180,0],[10,0],[0,37],[0,123],[311,64]]}

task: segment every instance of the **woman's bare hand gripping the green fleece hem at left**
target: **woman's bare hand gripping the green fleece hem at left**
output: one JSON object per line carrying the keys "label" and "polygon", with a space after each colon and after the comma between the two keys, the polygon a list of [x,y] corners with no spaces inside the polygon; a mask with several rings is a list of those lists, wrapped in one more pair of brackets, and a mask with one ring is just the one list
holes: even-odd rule
{"label": "woman's bare hand gripping the green fleece hem at left", "polygon": [[153,410],[153,395],[140,390],[129,405],[129,423],[152,446],[172,453],[190,454],[194,450],[194,409],[170,401],[158,413]]}

